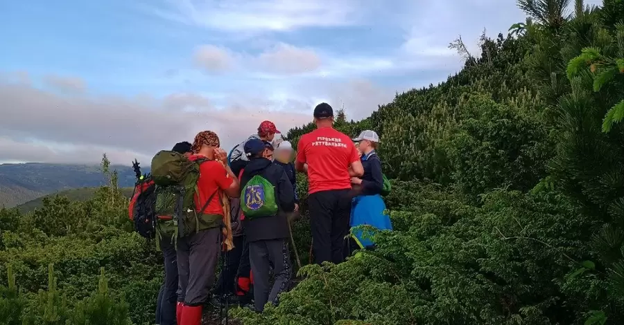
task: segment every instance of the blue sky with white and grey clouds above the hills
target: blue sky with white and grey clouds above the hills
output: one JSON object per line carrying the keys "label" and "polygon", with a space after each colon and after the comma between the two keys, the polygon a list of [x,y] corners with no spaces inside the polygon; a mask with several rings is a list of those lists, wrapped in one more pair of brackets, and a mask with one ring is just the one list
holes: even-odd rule
{"label": "blue sky with white and grey clouds above the hills", "polygon": [[458,71],[458,35],[476,53],[524,17],[511,0],[2,1],[0,163],[128,163],[203,129],[229,148],[320,101],[364,118]]}

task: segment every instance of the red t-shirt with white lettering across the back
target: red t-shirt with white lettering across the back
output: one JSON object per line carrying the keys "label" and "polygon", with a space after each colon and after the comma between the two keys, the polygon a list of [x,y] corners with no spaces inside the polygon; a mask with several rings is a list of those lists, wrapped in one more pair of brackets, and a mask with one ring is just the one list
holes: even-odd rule
{"label": "red t-shirt with white lettering across the back", "polygon": [[331,127],[304,134],[297,145],[297,162],[308,164],[310,194],[330,189],[350,189],[349,165],[360,160],[346,134]]}

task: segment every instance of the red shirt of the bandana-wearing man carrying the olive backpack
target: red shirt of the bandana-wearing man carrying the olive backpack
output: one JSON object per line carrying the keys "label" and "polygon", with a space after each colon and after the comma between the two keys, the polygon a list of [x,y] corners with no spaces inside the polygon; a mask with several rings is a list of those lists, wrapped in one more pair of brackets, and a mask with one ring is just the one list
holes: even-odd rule
{"label": "red shirt of the bandana-wearing man carrying the olive backpack", "polygon": [[[190,156],[190,160],[196,160],[202,156]],[[220,190],[223,191],[232,185],[234,179],[229,177],[225,167],[216,160],[209,160],[200,165],[200,177],[197,180],[197,189],[199,198],[195,196],[195,209],[199,212],[206,204],[206,200]],[[203,214],[220,214],[223,216],[223,206],[220,202],[220,192],[212,197],[210,203],[204,210]]]}

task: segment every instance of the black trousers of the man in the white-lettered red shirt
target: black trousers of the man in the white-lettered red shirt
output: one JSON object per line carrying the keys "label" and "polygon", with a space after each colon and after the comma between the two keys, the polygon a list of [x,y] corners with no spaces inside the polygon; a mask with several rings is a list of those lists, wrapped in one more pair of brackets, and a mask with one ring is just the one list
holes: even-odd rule
{"label": "black trousers of the man in the white-lettered red shirt", "polygon": [[314,262],[345,260],[345,236],[349,234],[351,190],[333,189],[308,196]]}

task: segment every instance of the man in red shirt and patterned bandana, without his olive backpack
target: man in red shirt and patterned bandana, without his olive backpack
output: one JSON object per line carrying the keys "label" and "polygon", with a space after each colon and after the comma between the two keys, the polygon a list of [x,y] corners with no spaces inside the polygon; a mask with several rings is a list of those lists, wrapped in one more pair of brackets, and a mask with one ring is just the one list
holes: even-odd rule
{"label": "man in red shirt and patterned bandana, without his olive backpack", "polygon": [[200,325],[202,306],[214,282],[214,271],[221,249],[223,206],[221,197],[239,197],[239,180],[224,166],[227,154],[219,148],[216,133],[202,131],[193,142],[190,160],[207,159],[200,163],[195,198],[197,219],[190,234],[177,241],[177,324]]}

